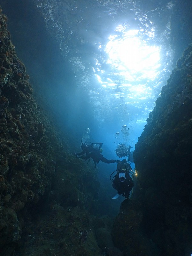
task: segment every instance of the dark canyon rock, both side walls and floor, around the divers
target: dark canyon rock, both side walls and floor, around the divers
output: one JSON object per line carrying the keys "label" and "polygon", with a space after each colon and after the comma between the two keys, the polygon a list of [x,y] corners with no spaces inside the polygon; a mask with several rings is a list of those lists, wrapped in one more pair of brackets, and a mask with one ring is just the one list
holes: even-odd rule
{"label": "dark canyon rock, both side walls and floor, around the divers", "polygon": [[114,218],[99,214],[109,202],[101,204],[97,171],[74,158],[76,141],[33,95],[6,22],[1,13],[1,254],[190,255],[192,46],[147,119],[134,151],[134,194]]}

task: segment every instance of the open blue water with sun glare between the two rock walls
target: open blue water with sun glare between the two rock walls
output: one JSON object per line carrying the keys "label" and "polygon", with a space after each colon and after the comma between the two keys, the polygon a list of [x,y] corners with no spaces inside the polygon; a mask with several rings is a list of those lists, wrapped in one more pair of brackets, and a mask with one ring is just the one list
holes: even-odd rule
{"label": "open blue water with sun glare between the two rock walls", "polygon": [[34,93],[42,95],[66,136],[80,149],[89,128],[89,140],[103,142],[107,158],[118,158],[119,143],[134,150],[173,69],[174,4],[10,0],[4,5]]}

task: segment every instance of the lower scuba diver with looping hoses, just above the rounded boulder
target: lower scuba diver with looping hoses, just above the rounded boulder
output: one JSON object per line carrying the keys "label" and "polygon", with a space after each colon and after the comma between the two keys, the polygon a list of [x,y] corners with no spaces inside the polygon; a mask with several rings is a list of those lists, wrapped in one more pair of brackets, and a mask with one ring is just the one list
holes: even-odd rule
{"label": "lower scuba diver with looping hoses, just above the rounded boulder", "polygon": [[118,161],[117,170],[115,171],[117,173],[113,176],[112,179],[111,176],[114,172],[111,173],[110,176],[112,187],[115,188],[118,193],[112,199],[117,199],[121,194],[122,196],[125,196],[125,198],[129,198],[130,191],[134,187],[134,176],[131,171],[131,166],[129,163],[127,163],[126,159]]}

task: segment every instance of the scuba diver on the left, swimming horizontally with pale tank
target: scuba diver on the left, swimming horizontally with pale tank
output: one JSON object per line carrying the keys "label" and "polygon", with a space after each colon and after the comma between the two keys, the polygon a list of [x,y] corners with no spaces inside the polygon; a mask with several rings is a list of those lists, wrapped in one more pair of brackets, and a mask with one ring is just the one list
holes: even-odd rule
{"label": "scuba diver on the left, swimming horizontally with pale tank", "polygon": [[105,158],[101,154],[103,152],[103,149],[101,148],[102,145],[103,145],[103,143],[99,143],[99,142],[94,142],[94,143],[85,142],[85,143],[83,143],[82,140],[81,140],[82,152],[74,153],[74,155],[76,157],[82,158],[84,160],[88,159],[88,162],[92,158],[93,161],[95,162],[95,168],[96,168],[96,163],[98,164],[99,161],[102,161],[106,164],[118,163],[118,160],[114,160],[114,159],[108,160],[107,158]]}

